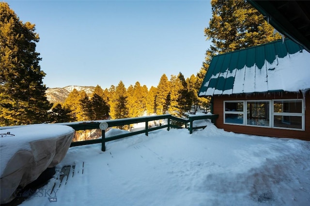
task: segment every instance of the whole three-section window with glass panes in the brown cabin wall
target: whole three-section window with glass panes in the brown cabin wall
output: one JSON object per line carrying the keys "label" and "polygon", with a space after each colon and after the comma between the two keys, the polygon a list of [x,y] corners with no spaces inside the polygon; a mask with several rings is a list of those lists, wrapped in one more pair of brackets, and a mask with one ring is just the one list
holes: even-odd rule
{"label": "whole three-section window with glass panes in the brown cabin wall", "polygon": [[224,124],[304,130],[303,100],[224,101]]}

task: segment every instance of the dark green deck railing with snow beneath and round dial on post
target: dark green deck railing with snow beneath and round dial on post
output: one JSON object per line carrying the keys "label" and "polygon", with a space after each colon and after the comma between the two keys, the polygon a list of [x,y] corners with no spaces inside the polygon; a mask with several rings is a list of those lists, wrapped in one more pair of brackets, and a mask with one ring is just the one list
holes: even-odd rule
{"label": "dark green deck railing with snow beneath and round dial on post", "polygon": [[[128,133],[114,135],[110,137],[105,137],[105,130],[102,130],[101,139],[72,142],[70,146],[70,147],[76,147],[76,146],[82,146],[82,145],[101,143],[101,150],[105,151],[106,142],[109,142],[112,140],[117,140],[117,139],[121,139],[121,138],[128,137],[128,136],[133,136],[133,135],[137,135],[141,133],[145,133],[145,135],[148,135],[148,132],[163,129],[163,128],[167,128],[168,131],[170,130],[170,128],[181,129],[181,128],[184,128],[183,126],[187,128],[188,123],[189,123],[188,130],[189,130],[189,133],[191,134],[193,133],[193,130],[195,129],[201,129],[201,128],[206,127],[206,126],[193,127],[193,121],[199,120],[199,119],[211,119],[211,121],[214,123],[216,118],[218,118],[218,115],[190,116],[186,119],[177,118],[171,115],[157,115],[157,116],[147,116],[147,117],[140,117],[140,118],[123,118],[123,119],[98,120],[98,121],[87,121],[87,122],[66,122],[66,123],[57,123],[57,124],[67,125],[67,126],[72,127],[75,131],[79,131],[79,130],[99,129],[99,125],[101,122],[107,122],[109,127],[117,127],[117,126],[124,126],[124,125],[145,122],[144,130],[140,130],[136,132],[128,132]],[[167,119],[167,124],[149,128],[148,123],[150,121],[161,120],[161,119]],[[179,124],[174,124],[174,122],[179,122]],[[180,125],[183,125],[183,126],[180,126]]]}

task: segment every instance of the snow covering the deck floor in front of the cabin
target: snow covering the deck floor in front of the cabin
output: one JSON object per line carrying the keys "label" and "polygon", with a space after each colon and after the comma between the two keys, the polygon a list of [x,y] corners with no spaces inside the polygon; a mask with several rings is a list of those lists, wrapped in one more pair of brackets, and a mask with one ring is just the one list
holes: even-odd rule
{"label": "snow covering the deck floor in front of the cabin", "polygon": [[[308,206],[310,142],[165,129],[71,147],[22,206]],[[115,130],[112,130],[115,132]],[[62,166],[76,165],[59,187]],[[52,190],[55,185],[54,190]]]}

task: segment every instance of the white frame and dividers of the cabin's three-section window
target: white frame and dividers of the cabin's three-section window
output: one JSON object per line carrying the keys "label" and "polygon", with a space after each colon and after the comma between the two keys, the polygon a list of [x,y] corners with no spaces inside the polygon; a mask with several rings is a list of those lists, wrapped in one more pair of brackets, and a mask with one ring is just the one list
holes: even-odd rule
{"label": "white frame and dividers of the cabin's three-section window", "polygon": [[[274,112],[274,103],[275,102],[287,102],[287,101],[298,101],[301,102],[301,113],[289,113],[289,112]],[[248,124],[248,102],[269,102],[269,126],[264,125],[251,125]],[[225,105],[226,103],[243,103],[243,111],[226,111]],[[243,115],[243,124],[237,123],[226,123],[226,114],[241,114]],[[290,117],[301,117],[301,129],[298,128],[287,128],[287,127],[277,127],[274,126],[275,116],[290,116]],[[303,99],[272,99],[272,100],[229,100],[223,101],[223,124],[228,125],[239,125],[239,126],[248,126],[248,127],[263,127],[263,128],[273,128],[273,129],[281,129],[281,130],[295,130],[295,131],[305,131],[305,104]]]}

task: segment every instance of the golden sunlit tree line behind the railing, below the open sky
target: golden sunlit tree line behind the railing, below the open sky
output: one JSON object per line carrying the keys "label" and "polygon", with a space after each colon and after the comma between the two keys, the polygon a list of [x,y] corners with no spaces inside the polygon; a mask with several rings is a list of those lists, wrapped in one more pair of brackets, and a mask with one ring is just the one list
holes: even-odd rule
{"label": "golden sunlit tree line behind the railing, below the open sky", "polygon": [[125,88],[122,81],[115,87],[102,89],[97,85],[88,96],[85,91],[73,89],[64,103],[56,103],[49,112],[51,122],[69,122],[100,119],[141,117],[143,115],[166,114],[184,117],[192,105],[206,107],[208,98],[199,98],[201,79],[192,74],[189,78],[182,73],[166,74],[157,87],[148,89],[139,82]]}

